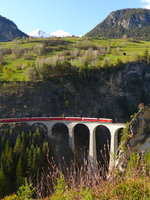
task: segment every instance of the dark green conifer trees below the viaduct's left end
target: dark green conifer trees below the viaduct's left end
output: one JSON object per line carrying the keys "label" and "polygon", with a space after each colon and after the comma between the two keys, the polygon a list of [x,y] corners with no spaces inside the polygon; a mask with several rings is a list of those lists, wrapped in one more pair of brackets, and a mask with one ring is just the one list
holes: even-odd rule
{"label": "dark green conifer trees below the viaduct's left end", "polygon": [[[25,134],[6,130],[0,136],[0,198],[15,192],[26,177],[36,184],[47,169],[47,136],[40,131]],[[4,137],[5,136],[5,137]]]}

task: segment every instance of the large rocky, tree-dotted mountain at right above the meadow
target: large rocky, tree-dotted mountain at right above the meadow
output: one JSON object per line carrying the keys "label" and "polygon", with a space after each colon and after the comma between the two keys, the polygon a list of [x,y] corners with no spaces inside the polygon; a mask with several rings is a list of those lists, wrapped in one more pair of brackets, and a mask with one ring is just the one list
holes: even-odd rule
{"label": "large rocky, tree-dotted mountain at right above the meadow", "polygon": [[112,12],[86,36],[150,40],[150,10],[123,9]]}

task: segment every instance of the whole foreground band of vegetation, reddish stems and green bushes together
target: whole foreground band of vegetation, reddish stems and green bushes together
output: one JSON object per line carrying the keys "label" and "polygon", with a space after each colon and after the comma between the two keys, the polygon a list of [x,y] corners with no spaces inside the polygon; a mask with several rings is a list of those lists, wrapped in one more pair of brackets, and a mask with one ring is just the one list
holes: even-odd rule
{"label": "whole foreground band of vegetation, reddish stems and green bushes together", "polygon": [[[28,197],[30,200],[149,200],[150,174],[147,173],[147,166],[149,166],[147,155],[149,153],[146,154],[145,160],[143,160],[145,155],[142,160],[139,160],[139,157],[133,154],[127,174],[123,177],[117,171],[113,171],[109,179],[106,179],[103,166],[93,173],[86,160],[80,167],[74,162],[67,167],[64,162],[63,168],[51,160],[48,170],[39,176],[35,188],[31,188],[31,184],[26,183],[22,186],[25,189],[19,189],[21,193],[5,197],[3,200],[19,200],[26,196],[27,191],[31,194]],[[27,187],[28,185],[30,187]]]}

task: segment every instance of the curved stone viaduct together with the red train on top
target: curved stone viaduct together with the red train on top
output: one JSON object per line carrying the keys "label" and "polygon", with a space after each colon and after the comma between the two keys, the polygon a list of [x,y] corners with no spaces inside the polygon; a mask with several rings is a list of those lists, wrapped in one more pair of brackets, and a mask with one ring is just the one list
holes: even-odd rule
{"label": "curved stone viaduct together with the red train on top", "polygon": [[[113,123],[111,119],[103,118],[34,117],[3,119],[0,122],[26,122],[34,129],[42,127],[50,138],[55,137],[56,140],[61,135],[60,138],[66,138],[73,152],[79,148],[86,149],[92,167],[95,167],[102,157],[100,154],[104,148],[109,152],[109,167],[114,165],[114,154],[120,142],[120,133],[125,127],[123,123]],[[77,151],[77,153],[81,152]]]}

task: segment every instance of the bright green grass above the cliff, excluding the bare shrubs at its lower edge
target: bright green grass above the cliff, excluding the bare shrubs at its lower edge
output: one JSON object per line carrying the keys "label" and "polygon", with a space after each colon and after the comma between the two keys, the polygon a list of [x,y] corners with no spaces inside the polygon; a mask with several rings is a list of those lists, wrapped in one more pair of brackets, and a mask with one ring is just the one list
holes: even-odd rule
{"label": "bright green grass above the cliff, excluding the bare shrubs at its lower edge", "polygon": [[[84,56],[89,49],[102,49],[94,64],[100,68],[106,60],[108,65],[115,65],[118,59],[124,63],[134,61],[149,47],[150,42],[146,41],[100,38],[21,39],[0,43],[0,81],[28,81],[25,72],[31,63],[40,57],[64,56],[72,65],[82,67]],[[79,56],[71,56],[68,53],[76,50],[80,52]],[[126,55],[123,55],[124,53]]]}

